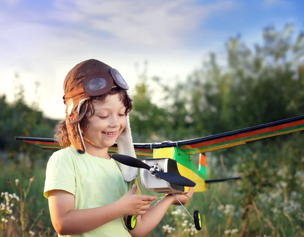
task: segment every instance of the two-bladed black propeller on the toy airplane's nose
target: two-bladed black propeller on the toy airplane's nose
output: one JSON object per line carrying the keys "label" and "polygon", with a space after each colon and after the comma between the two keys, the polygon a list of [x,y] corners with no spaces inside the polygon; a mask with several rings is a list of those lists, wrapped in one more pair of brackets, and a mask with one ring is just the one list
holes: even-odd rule
{"label": "two-bladed black propeller on the toy airplane's nose", "polygon": [[150,167],[149,165],[142,162],[141,160],[138,160],[131,156],[113,154],[113,155],[111,155],[111,158],[113,158],[114,160],[116,160],[124,165],[132,166],[135,168],[147,169],[147,170],[149,170],[149,172],[151,174],[155,174],[156,176],[159,176],[160,178],[162,178],[170,183],[174,183],[176,185],[187,186],[187,187],[194,187],[196,185],[195,182],[191,181],[190,179],[188,179],[184,176],[181,176],[179,174],[166,173],[166,172],[161,172],[161,171],[155,170],[153,167]]}

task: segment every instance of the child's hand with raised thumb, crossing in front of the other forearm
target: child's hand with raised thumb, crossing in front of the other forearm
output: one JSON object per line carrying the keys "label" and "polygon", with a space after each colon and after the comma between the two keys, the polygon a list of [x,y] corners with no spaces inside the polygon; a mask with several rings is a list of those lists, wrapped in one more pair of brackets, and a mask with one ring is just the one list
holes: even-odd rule
{"label": "child's hand with raised thumb, crossing in front of the other forearm", "polygon": [[143,215],[149,209],[150,203],[156,200],[156,196],[134,194],[136,185],[121,197],[117,203],[123,215]]}

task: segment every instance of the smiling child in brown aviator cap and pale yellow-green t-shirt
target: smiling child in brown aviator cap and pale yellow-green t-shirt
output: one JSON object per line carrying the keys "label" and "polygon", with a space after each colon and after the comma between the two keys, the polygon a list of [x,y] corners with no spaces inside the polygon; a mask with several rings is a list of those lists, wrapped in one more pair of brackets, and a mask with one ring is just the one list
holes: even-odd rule
{"label": "smiling child in brown aviator cap and pale yellow-green t-shirt", "polygon": [[[146,236],[179,202],[168,195],[149,208],[157,197],[140,194],[137,168],[119,167],[108,155],[117,140],[119,154],[136,157],[129,86],[117,70],[92,59],[76,65],[63,87],[66,119],[55,137],[65,149],[51,156],[44,189],[55,230],[59,236]],[[126,228],[128,215],[138,215],[133,230]]]}

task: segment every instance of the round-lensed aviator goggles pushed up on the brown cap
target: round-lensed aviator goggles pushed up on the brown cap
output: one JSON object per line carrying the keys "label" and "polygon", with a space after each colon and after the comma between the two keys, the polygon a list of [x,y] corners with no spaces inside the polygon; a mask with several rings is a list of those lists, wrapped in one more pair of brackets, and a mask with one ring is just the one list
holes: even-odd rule
{"label": "round-lensed aviator goggles pushed up on the brown cap", "polygon": [[88,75],[84,81],[83,86],[79,89],[72,90],[64,94],[63,99],[69,99],[85,92],[89,96],[100,96],[109,92],[113,87],[119,87],[128,90],[129,86],[123,79],[122,75],[116,70],[111,69],[108,72],[94,72]]}

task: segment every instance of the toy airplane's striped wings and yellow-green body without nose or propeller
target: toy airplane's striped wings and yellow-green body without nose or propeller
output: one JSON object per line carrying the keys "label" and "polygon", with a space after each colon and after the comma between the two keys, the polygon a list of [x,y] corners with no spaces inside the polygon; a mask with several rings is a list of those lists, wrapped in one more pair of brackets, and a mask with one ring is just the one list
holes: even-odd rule
{"label": "toy airplane's striped wings and yellow-green body without nose or propeller", "polygon": [[[220,182],[229,179],[212,179],[206,177],[206,158],[204,153],[236,147],[274,137],[282,134],[304,130],[304,116],[284,119],[276,122],[239,129],[231,132],[181,141],[164,141],[163,143],[135,143],[136,155],[156,158],[170,158],[176,161],[180,174],[196,183],[194,192],[204,192],[207,183]],[[16,136],[18,140],[43,149],[62,149],[52,138],[36,138]],[[118,153],[117,144],[109,148],[110,153]],[[192,162],[191,155],[200,154],[199,168]]]}

